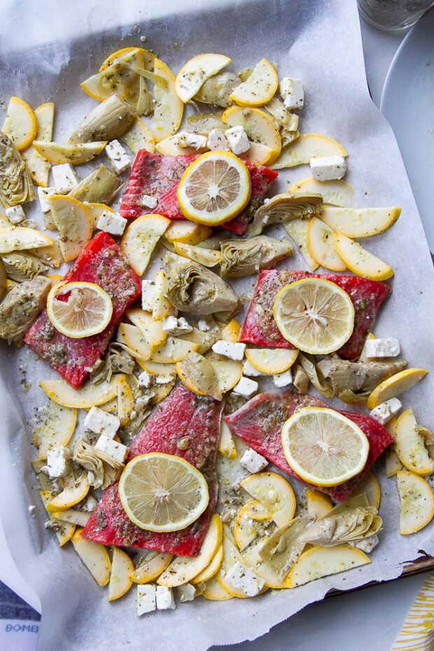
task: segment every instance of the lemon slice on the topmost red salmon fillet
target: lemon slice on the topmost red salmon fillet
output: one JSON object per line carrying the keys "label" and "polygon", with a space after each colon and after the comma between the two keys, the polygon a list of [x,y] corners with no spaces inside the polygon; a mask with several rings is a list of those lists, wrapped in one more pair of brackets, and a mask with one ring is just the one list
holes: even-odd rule
{"label": "lemon slice on the topmost red salmon fillet", "polygon": [[248,169],[229,151],[202,154],[188,166],[178,186],[181,211],[200,224],[228,221],[246,207],[250,197]]}

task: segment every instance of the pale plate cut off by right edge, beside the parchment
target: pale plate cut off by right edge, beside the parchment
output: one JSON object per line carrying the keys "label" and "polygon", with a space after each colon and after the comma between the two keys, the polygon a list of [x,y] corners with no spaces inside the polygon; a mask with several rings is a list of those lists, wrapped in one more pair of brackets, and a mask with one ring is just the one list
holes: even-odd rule
{"label": "pale plate cut off by right edge, beside the parchment", "polygon": [[434,252],[434,8],[409,31],[393,57],[380,109],[395,133]]}

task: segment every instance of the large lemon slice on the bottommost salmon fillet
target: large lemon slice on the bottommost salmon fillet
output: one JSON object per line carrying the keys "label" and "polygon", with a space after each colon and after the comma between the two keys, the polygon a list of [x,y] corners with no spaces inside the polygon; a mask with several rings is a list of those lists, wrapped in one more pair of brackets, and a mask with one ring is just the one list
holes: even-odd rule
{"label": "large lemon slice on the bottommost salmon fillet", "polygon": [[150,452],[127,463],[119,482],[127,516],[148,531],[179,531],[208,506],[208,484],[180,456]]}

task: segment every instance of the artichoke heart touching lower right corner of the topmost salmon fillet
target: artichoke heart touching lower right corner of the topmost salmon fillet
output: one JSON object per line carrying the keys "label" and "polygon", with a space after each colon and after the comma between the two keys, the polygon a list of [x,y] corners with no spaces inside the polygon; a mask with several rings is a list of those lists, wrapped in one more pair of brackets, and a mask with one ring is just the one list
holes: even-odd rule
{"label": "artichoke heart touching lower right corner of the topmost salmon fillet", "polygon": [[284,224],[292,219],[309,218],[321,214],[323,197],[314,193],[304,195],[282,193],[266,201],[255,212],[253,222],[247,227],[248,235],[259,235],[265,226]]}

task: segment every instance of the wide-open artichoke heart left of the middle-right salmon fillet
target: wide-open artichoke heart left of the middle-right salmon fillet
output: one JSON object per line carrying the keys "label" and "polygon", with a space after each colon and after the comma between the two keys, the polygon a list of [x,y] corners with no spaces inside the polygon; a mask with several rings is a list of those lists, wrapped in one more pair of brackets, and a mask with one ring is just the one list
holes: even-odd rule
{"label": "wide-open artichoke heart left of the middle-right salmon fillet", "polygon": [[241,304],[230,286],[199,262],[167,253],[163,267],[167,274],[167,298],[177,309],[212,314],[235,310]]}

